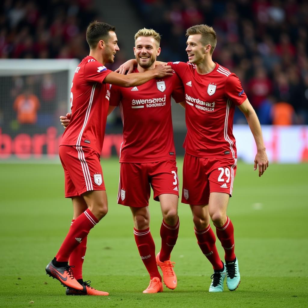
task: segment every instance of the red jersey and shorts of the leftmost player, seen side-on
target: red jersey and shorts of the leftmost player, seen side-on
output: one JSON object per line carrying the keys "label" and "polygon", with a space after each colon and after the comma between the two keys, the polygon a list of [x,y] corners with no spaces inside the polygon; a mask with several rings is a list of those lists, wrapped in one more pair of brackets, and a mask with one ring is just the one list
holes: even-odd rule
{"label": "red jersey and shorts of the leftmost player, seen side-on", "polygon": [[60,143],[65,173],[65,197],[90,190],[105,190],[99,162],[103,147],[111,71],[93,57],[85,57],[75,70],[71,87],[71,122]]}

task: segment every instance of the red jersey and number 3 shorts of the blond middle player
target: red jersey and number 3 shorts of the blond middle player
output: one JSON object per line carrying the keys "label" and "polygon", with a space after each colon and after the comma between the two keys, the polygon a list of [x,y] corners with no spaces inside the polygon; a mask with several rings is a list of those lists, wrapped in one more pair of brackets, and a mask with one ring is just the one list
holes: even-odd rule
{"label": "red jersey and number 3 shorts of the blond middle player", "polygon": [[109,103],[119,105],[123,121],[119,204],[147,206],[150,185],[156,201],[163,193],[178,195],[171,96],[177,103],[184,101],[176,74],[137,87],[111,87]]}

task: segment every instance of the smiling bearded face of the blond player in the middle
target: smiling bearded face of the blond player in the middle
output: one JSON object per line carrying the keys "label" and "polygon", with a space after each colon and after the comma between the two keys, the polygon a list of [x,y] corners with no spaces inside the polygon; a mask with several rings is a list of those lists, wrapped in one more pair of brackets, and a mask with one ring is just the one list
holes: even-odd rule
{"label": "smiling bearded face of the blond player in the middle", "polygon": [[138,64],[148,68],[156,61],[160,54],[160,47],[157,47],[156,40],[151,36],[140,36],[136,39],[134,54]]}

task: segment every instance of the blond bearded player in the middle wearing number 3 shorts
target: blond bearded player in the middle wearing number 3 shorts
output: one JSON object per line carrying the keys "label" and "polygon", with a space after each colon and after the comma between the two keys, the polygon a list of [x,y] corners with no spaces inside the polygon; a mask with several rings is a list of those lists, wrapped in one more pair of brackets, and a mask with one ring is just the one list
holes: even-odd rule
{"label": "blond bearded player in the middle wearing number 3 shorts", "polygon": [[[160,54],[160,35],[152,29],[141,29],[135,35],[134,53],[138,66],[134,72],[151,71]],[[173,142],[171,97],[184,104],[183,85],[176,74],[152,79],[138,87],[111,87],[110,111],[120,106],[123,120],[123,143],[120,154],[118,203],[129,206],[134,221],[134,235],[140,257],[150,275],[143,293],[163,291],[161,276],[169,289],[177,285],[170,261],[179,232],[177,205],[179,180]],[[68,114],[68,118],[70,115]],[[61,117],[67,126],[67,117]],[[154,200],[160,201],[163,221],[160,227],[161,249],[155,257],[150,233],[148,201],[152,186]],[[136,187],[138,189],[136,189]]]}

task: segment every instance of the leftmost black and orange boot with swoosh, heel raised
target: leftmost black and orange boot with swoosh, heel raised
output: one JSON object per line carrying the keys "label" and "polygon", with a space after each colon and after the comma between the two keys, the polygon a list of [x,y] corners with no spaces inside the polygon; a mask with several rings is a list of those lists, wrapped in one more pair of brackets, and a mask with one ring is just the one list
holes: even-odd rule
{"label": "leftmost black and orange boot with swoosh, heel raised", "polygon": [[71,267],[74,266],[67,265],[65,267],[55,267],[51,261],[46,266],[46,274],[52,278],[58,279],[59,282],[67,288],[83,290],[83,286],[74,278]]}

